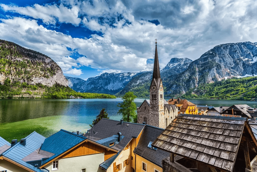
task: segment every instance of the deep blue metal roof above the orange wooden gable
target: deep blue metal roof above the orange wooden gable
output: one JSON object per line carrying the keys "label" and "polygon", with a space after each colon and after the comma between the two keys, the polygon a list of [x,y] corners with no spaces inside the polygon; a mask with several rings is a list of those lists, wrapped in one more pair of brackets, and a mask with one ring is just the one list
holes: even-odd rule
{"label": "deep blue metal roof above the orange wooden gable", "polygon": [[45,139],[41,150],[54,153],[54,155],[46,160],[43,160],[42,165],[58,157],[60,154],[74,147],[85,139],[87,138],[65,130],[60,130],[57,133],[49,136],[47,139]]}

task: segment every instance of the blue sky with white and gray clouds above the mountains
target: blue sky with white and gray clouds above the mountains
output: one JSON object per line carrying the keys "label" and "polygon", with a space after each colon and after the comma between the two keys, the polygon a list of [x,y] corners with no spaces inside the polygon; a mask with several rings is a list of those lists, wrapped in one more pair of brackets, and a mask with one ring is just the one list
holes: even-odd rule
{"label": "blue sky with white and gray clouds above the mountains", "polygon": [[256,0],[0,1],[0,39],[39,51],[64,75],[87,80],[104,72],[195,60],[219,44],[257,42]]}

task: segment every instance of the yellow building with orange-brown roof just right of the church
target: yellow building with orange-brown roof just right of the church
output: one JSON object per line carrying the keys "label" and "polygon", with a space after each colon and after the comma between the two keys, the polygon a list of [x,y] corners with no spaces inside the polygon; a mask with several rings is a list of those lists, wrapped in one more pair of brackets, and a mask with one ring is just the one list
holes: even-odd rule
{"label": "yellow building with orange-brown roof just right of the church", "polygon": [[186,99],[170,99],[168,101],[170,105],[176,105],[178,108],[178,114],[194,114],[198,115],[198,109],[195,104]]}

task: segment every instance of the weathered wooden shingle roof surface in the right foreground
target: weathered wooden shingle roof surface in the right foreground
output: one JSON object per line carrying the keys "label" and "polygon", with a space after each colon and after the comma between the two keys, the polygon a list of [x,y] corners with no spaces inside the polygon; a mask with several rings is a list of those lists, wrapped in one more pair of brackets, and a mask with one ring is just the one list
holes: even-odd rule
{"label": "weathered wooden shingle roof surface in the right foreground", "polygon": [[246,118],[179,114],[152,145],[232,171],[245,125]]}

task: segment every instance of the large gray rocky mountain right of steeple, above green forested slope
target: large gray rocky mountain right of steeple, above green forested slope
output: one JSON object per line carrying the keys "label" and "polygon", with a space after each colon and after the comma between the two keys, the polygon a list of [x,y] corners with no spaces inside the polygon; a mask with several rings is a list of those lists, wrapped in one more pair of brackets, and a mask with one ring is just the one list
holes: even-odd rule
{"label": "large gray rocky mountain right of steeple, above green forested slope", "polygon": [[166,95],[181,94],[199,84],[212,83],[233,76],[257,74],[257,43],[222,44],[210,49],[179,74],[165,81]]}

